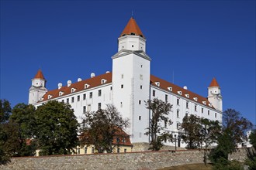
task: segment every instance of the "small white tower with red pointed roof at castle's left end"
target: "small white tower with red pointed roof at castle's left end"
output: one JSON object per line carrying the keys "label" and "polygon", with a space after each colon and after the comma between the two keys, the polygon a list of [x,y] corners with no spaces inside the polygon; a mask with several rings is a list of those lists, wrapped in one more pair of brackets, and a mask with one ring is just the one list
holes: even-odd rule
{"label": "small white tower with red pointed roof at castle's left end", "polygon": [[29,104],[35,104],[47,93],[47,80],[45,80],[41,70],[38,70],[36,76],[32,79],[32,85],[29,88]]}

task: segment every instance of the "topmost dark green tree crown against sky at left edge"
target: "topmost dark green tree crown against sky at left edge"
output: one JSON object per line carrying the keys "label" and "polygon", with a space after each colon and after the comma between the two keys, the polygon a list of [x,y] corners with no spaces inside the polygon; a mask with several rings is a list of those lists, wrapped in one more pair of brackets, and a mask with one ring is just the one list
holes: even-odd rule
{"label": "topmost dark green tree crown against sky at left edge", "polygon": [[0,99],[0,123],[8,121],[11,115],[12,107],[8,100]]}

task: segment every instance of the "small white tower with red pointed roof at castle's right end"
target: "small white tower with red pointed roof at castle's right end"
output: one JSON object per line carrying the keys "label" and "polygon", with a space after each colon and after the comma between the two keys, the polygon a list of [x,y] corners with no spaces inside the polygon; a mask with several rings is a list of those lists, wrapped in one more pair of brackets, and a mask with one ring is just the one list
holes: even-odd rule
{"label": "small white tower with red pointed roof at castle's right end", "polygon": [[208,87],[208,100],[216,110],[222,111],[222,96],[220,93],[220,86],[217,83],[215,77],[213,78],[212,82],[209,84]]}

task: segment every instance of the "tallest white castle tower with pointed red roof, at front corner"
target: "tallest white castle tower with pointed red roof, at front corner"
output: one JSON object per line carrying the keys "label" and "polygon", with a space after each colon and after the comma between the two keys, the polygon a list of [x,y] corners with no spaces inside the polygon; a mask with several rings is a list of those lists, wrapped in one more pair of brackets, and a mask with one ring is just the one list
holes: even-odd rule
{"label": "tallest white castle tower with pointed red roof, at front corner", "polygon": [[148,142],[144,133],[149,110],[144,101],[150,96],[150,60],[146,39],[132,17],[118,38],[118,53],[112,56],[112,101],[130,120],[127,133],[132,142]]}

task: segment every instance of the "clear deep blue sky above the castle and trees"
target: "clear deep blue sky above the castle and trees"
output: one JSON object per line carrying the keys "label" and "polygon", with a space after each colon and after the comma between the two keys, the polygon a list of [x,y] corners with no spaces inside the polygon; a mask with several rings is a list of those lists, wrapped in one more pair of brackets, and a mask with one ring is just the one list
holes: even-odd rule
{"label": "clear deep blue sky above the castle and trees", "polygon": [[48,90],[111,71],[132,11],[152,74],[204,97],[215,76],[255,124],[255,1],[1,1],[0,98],[27,103],[39,68]]}

